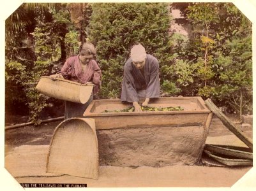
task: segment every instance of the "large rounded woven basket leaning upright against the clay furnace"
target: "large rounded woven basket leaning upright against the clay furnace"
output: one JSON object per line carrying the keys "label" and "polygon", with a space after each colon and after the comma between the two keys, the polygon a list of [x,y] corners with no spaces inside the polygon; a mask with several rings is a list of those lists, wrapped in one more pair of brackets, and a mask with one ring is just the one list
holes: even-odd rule
{"label": "large rounded woven basket leaning upright against the clay furnace", "polygon": [[98,179],[98,139],[94,119],[69,118],[50,141],[46,172]]}

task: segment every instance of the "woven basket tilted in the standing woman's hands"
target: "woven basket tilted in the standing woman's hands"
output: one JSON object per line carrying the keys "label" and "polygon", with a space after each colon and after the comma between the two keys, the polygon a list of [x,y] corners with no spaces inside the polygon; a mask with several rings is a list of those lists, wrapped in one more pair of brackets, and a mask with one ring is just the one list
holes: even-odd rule
{"label": "woven basket tilted in the standing woman's hands", "polygon": [[36,90],[49,97],[85,104],[91,96],[93,86],[61,78],[51,80],[49,76],[41,76]]}

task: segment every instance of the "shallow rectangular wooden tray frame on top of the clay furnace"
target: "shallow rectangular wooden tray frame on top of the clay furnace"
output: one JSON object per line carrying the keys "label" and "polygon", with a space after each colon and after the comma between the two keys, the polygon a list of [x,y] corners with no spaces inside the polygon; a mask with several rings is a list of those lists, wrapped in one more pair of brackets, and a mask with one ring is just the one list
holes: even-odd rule
{"label": "shallow rectangular wooden tray frame on top of the clay furnace", "polygon": [[96,129],[130,127],[177,127],[205,125],[211,111],[201,97],[162,97],[149,102],[150,106],[181,106],[183,111],[108,112],[123,110],[132,104],[122,104],[120,99],[100,99],[89,104],[84,117],[94,118]]}

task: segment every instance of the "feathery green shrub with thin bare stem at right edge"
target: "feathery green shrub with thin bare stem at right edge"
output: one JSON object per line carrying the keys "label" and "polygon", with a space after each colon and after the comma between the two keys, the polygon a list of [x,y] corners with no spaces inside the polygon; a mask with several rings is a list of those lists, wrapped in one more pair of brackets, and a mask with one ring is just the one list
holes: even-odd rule
{"label": "feathery green shrub with thin bare stem at right edge", "polygon": [[229,55],[218,55],[220,70],[220,100],[226,100],[242,115],[252,102],[252,35],[227,41]]}

